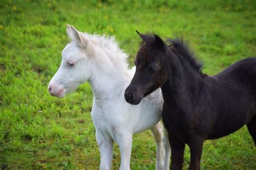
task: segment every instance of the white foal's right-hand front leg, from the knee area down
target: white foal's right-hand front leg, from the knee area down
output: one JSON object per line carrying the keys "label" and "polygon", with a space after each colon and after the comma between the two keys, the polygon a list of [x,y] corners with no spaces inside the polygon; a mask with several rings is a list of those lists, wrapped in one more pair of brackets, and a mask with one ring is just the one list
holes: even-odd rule
{"label": "white foal's right-hand front leg, from the knee area down", "polygon": [[119,170],[130,170],[131,152],[132,152],[132,134],[122,133],[117,137],[117,144],[121,153],[121,165]]}

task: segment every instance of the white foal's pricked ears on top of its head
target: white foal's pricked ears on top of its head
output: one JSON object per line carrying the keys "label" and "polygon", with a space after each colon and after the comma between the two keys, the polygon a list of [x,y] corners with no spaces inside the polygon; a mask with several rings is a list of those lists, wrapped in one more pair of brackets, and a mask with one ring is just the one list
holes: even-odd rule
{"label": "white foal's pricked ears on top of its head", "polygon": [[70,25],[66,25],[66,27],[66,32],[71,40],[76,41],[82,47],[88,47],[89,39],[87,39],[82,32],[77,31],[73,26]]}

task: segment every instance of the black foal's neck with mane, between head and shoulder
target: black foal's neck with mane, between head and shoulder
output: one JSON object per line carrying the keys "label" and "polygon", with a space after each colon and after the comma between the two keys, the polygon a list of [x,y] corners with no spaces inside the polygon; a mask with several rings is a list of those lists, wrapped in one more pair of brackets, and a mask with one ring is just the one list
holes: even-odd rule
{"label": "black foal's neck with mane, between head and shoulder", "polygon": [[202,73],[178,52],[174,53],[170,50],[166,60],[167,80],[161,87],[165,101],[169,100],[180,105],[185,102],[190,103],[190,99],[196,97],[200,90],[203,82]]}

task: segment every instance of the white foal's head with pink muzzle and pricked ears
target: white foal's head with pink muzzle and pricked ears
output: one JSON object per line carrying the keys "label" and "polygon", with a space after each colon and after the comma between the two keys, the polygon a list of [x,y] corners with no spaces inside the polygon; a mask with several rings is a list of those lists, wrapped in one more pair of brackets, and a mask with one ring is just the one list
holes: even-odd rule
{"label": "white foal's head with pink muzzle and pricked ears", "polygon": [[[86,35],[67,25],[68,35],[72,42],[62,51],[62,63],[51,79],[48,90],[52,96],[64,97],[66,93],[91,78],[93,58],[101,52]],[[99,54],[97,54],[99,55]]]}

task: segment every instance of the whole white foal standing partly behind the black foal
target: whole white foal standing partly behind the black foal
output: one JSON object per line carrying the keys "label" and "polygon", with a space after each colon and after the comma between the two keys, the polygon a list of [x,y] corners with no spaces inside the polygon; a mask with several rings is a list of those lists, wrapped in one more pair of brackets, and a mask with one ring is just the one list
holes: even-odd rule
{"label": "whole white foal standing partly behind the black foal", "polygon": [[130,169],[132,135],[148,129],[156,140],[156,169],[169,169],[170,145],[167,135],[163,137],[163,126],[159,122],[163,106],[160,89],[139,105],[126,103],[124,90],[134,69],[128,69],[127,55],[114,38],[88,35],[69,25],[67,31],[72,41],[65,46],[62,63],[48,88],[52,96],[64,97],[87,80],[91,84],[91,117],[100,151],[100,169],[111,169],[114,141],[120,148],[120,169]]}

